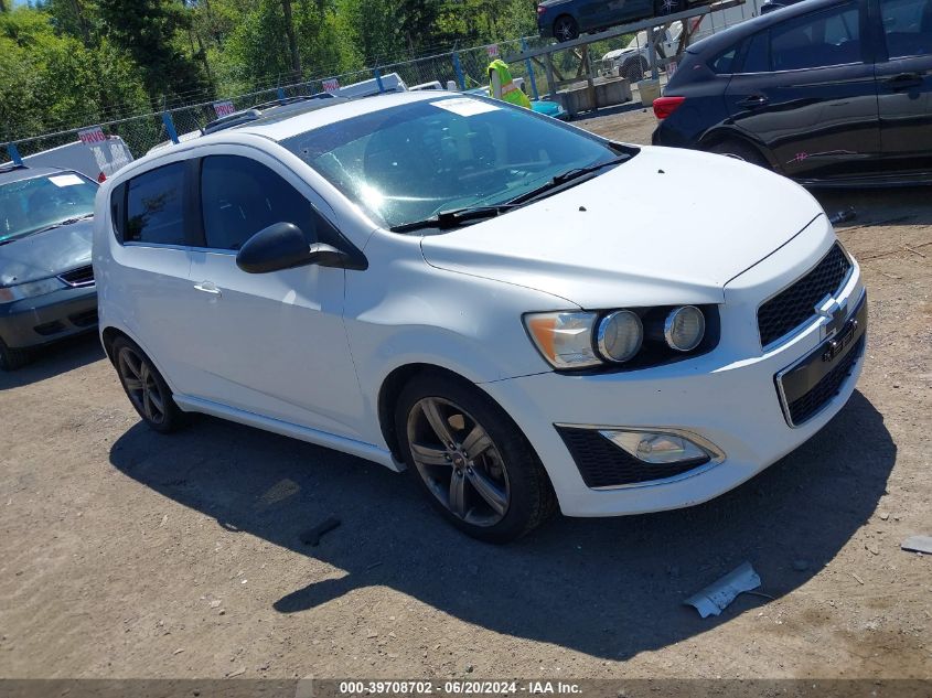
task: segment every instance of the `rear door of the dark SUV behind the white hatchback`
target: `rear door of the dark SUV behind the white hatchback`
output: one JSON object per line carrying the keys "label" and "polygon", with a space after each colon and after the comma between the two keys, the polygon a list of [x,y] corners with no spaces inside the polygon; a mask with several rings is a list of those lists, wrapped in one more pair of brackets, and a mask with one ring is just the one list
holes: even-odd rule
{"label": "rear door of the dark SUV behind the white hatchback", "polygon": [[866,0],[791,17],[746,40],[726,90],[735,126],[789,176],[877,167],[880,127]]}

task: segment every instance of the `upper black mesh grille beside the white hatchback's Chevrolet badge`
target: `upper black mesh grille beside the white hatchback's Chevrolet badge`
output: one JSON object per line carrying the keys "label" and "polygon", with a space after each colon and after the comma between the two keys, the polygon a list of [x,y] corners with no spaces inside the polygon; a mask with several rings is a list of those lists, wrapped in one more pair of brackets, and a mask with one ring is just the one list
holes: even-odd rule
{"label": "upper black mesh grille beside the white hatchback's Chevrolet badge", "polygon": [[758,308],[761,346],[799,327],[815,315],[816,304],[835,293],[848,275],[851,262],[838,243],[803,278]]}

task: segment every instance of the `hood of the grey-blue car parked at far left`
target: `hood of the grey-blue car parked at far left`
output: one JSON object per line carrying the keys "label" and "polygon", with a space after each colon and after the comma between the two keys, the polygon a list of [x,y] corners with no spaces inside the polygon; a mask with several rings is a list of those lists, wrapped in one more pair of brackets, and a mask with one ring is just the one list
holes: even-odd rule
{"label": "hood of the grey-blue car parked at far left", "polygon": [[94,219],[0,245],[0,286],[45,279],[90,264]]}

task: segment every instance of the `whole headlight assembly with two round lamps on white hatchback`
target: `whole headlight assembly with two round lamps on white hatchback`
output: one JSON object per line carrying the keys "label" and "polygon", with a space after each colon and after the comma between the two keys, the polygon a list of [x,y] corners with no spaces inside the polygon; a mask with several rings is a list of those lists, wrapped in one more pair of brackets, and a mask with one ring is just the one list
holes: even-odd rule
{"label": "whole headlight assembly with two round lamps on white hatchback", "polygon": [[719,332],[715,305],[528,313],[524,324],[540,355],[559,371],[671,363],[710,351]]}

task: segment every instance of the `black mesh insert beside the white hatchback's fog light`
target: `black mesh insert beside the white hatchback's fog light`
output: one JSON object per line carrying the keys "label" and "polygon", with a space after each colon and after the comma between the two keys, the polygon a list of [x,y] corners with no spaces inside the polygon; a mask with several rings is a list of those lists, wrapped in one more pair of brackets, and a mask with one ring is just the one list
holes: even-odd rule
{"label": "black mesh insert beside the white hatchback's fog light", "polygon": [[706,458],[685,463],[652,465],[639,461],[594,429],[557,427],[557,432],[569,449],[588,487],[612,487],[664,480],[688,472],[709,460]]}

